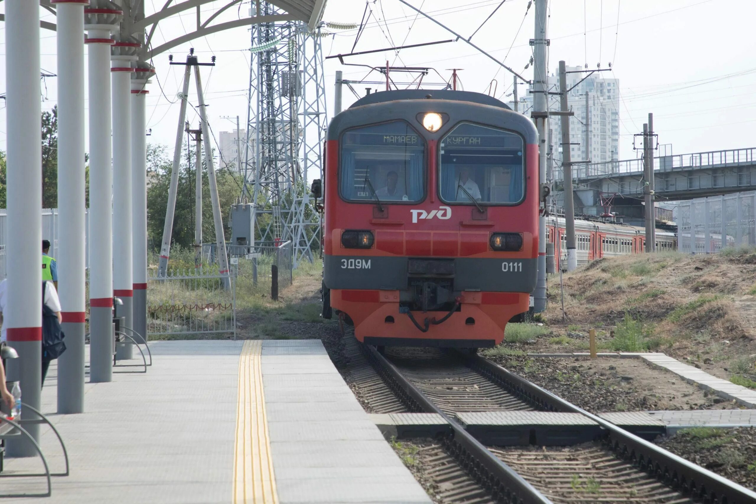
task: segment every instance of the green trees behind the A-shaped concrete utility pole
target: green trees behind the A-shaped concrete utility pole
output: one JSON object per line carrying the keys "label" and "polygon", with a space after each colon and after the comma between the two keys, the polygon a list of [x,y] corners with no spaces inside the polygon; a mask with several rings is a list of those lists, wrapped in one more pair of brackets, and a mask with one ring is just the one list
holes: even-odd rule
{"label": "green trees behind the A-shaped concrete utility pole", "polygon": [[[189,161],[184,156],[178,170],[178,187],[176,190],[176,206],[173,218],[172,243],[184,247],[194,244],[194,149],[190,150]],[[189,166],[191,165],[191,169]],[[147,239],[150,249],[160,249],[163,240],[163,225],[166,221],[166,206],[171,184],[172,159],[169,151],[163,145],[147,145]],[[215,172],[218,182],[218,201],[225,237],[231,237],[228,225],[228,214],[231,204],[239,196],[241,181],[238,175],[228,169],[218,169]],[[212,220],[212,205],[210,203],[210,189],[207,181],[207,168],[203,162],[203,190],[202,190],[202,236],[204,243],[215,242],[215,227]]]}

